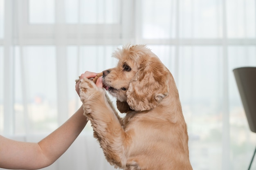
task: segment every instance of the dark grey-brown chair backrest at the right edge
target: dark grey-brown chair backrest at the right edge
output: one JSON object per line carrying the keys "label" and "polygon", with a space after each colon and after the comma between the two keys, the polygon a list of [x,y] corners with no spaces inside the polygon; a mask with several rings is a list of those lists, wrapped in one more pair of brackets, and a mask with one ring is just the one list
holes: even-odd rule
{"label": "dark grey-brown chair backrest at the right edge", "polygon": [[233,70],[245,115],[252,132],[256,132],[256,67]]}

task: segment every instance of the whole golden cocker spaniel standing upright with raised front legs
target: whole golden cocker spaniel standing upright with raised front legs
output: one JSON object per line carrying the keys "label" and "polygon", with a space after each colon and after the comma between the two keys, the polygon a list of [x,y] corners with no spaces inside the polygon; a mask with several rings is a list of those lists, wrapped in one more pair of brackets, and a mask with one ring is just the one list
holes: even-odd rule
{"label": "whole golden cocker spaniel standing upright with raised front legs", "polygon": [[170,71],[144,45],[118,49],[104,89],[82,79],[80,97],[106,159],[125,170],[192,170],[179,94]]}

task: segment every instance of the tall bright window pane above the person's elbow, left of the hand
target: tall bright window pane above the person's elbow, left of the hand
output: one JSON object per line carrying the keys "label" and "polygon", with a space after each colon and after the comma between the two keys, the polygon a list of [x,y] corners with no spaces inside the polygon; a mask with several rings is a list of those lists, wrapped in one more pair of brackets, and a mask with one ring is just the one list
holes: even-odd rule
{"label": "tall bright window pane above the person's elbow, left of the hand", "polygon": [[15,133],[49,132],[58,127],[55,48],[25,46],[20,57],[17,47],[15,53]]}

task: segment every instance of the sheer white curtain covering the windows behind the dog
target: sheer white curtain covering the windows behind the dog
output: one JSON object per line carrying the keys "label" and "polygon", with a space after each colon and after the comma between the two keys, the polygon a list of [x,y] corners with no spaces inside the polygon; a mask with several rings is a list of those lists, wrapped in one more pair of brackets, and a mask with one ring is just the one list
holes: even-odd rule
{"label": "sheer white curtain covering the windows behind the dog", "polygon": [[[81,105],[74,79],[115,66],[127,43],[147,44],[173,73],[194,170],[247,169],[256,135],[232,70],[256,66],[255,0],[0,0],[0,134],[52,132]],[[88,124],[44,169],[114,168]]]}

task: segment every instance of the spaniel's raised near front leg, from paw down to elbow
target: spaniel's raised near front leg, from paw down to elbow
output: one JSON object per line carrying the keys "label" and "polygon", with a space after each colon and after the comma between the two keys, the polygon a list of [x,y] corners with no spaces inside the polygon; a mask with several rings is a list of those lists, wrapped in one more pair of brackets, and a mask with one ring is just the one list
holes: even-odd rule
{"label": "spaniel's raised near front leg, from paw down to elbow", "polygon": [[86,78],[81,80],[79,88],[84,114],[91,121],[94,136],[99,140],[107,160],[111,164],[124,167],[128,135],[106,98],[105,90]]}

